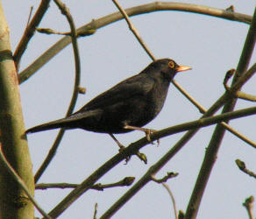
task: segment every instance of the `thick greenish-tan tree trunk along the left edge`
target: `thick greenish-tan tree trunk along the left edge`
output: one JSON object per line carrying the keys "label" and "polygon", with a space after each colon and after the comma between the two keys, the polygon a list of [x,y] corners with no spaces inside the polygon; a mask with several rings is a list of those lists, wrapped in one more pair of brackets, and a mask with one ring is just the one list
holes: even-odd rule
{"label": "thick greenish-tan tree trunk along the left edge", "polygon": [[[25,181],[33,195],[32,162],[25,137],[25,125],[12,59],[9,28],[0,0],[0,140],[4,156]],[[32,202],[0,161],[0,218],[32,219]]]}

